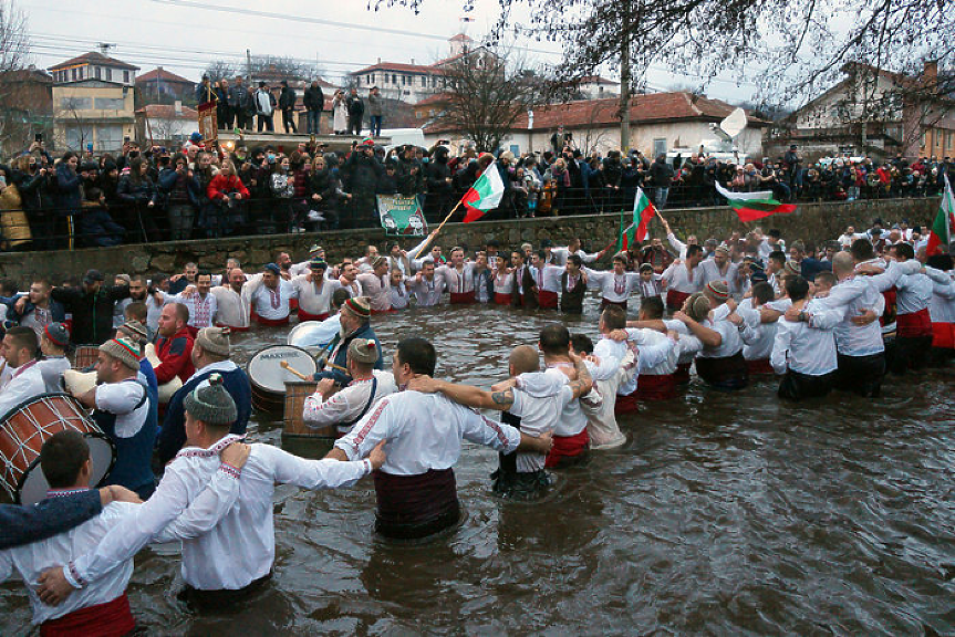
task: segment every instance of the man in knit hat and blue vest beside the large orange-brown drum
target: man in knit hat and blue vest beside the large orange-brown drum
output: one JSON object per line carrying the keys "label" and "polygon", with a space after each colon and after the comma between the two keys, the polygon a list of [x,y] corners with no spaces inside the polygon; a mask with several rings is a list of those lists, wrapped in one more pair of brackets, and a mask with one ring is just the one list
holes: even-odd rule
{"label": "man in knit hat and blue vest beside the large orange-brown drum", "polygon": [[139,346],[128,338],[111,338],[100,346],[96,387],[76,398],[93,407],[93,420],[116,446],[110,482],[146,500],[156,488],[153,443],[156,441],[159,397],[139,372]]}

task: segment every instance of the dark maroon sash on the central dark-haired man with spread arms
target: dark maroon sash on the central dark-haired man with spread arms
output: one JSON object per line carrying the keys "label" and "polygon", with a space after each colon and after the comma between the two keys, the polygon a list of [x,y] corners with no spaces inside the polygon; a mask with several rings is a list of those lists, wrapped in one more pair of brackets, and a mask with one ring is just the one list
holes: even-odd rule
{"label": "dark maroon sash on the central dark-haired man with spread arms", "polygon": [[378,470],[374,472],[374,480],[376,528],[385,535],[421,537],[440,530],[430,528],[436,521],[457,521],[454,469],[432,469],[417,476],[395,476]]}

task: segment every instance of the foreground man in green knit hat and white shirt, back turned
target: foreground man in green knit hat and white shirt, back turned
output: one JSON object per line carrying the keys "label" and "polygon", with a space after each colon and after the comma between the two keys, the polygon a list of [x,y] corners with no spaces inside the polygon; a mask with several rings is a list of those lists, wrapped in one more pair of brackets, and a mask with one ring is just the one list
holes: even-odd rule
{"label": "foreground man in green knit hat and white shirt, back turned", "polygon": [[[183,541],[180,594],[190,605],[233,604],[266,585],[276,557],[272,498],[277,483],[303,489],[334,489],[353,484],[385,461],[383,445],[365,460],[336,462],[304,460],[272,445],[250,445],[249,459],[239,472],[219,462],[219,451],[239,440],[229,434],[238,410],[219,374],[212,374],[183,399],[187,447],[166,467],[156,495],[120,520],[98,546],[63,568],[48,571],[56,591],[82,588],[150,541]],[[170,525],[181,510],[222,473],[239,484],[235,505],[205,507],[189,524]],[[235,501],[233,501],[235,502]],[[190,509],[191,511],[191,509]],[[208,529],[197,534],[196,528]],[[164,531],[165,529],[165,531]],[[186,536],[183,536],[186,534]],[[69,583],[69,584],[65,584]],[[41,593],[42,595],[42,593]]]}

